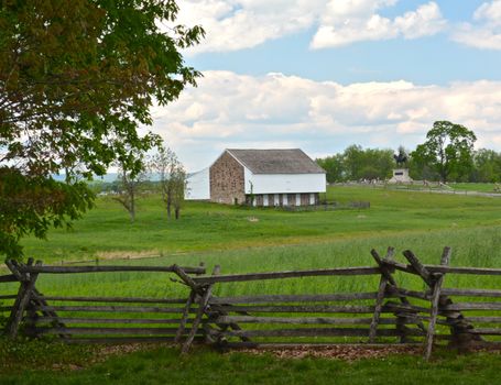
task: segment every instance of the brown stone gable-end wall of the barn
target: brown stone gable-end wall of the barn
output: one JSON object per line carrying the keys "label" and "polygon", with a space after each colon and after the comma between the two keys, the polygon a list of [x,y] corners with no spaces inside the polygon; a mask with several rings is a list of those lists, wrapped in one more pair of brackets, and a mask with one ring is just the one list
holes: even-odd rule
{"label": "brown stone gable-end wall of the barn", "polygon": [[225,152],[210,167],[210,201],[240,205],[246,201],[243,166]]}

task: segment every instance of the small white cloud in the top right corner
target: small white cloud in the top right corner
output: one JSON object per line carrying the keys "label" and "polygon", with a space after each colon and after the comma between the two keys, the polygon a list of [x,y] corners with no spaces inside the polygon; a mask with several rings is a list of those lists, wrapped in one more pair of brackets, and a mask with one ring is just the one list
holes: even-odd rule
{"label": "small white cloud in the top right corner", "polygon": [[451,38],[475,48],[501,50],[501,0],[482,3],[473,21],[459,25]]}

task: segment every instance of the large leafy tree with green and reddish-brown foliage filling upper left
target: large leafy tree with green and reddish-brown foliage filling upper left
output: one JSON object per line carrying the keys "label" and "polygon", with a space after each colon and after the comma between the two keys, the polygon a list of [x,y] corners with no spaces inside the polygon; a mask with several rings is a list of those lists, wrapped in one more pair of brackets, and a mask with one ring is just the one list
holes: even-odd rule
{"label": "large leafy tree with green and reddish-brown foliage filling upper left", "polygon": [[204,31],[174,25],[177,11],[174,0],[1,3],[0,254],[79,218],[94,199],[84,180],[115,161],[141,169],[134,153],[159,141],[137,130],[150,107],[200,75],[178,50]]}

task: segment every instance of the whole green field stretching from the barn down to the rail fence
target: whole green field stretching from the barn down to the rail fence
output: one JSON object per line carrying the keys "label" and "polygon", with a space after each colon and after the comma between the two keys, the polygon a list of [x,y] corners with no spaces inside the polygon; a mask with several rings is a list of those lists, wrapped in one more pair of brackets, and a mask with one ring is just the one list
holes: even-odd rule
{"label": "whole green field stretching from the barn down to the rail fence", "polygon": [[[161,250],[162,257],[120,263],[197,265],[203,261],[208,270],[220,264],[222,273],[228,274],[372,265],[370,250],[375,248],[383,253],[389,245],[395,246],[399,254],[411,249],[424,262],[437,263],[442,249],[449,245],[454,249],[453,265],[501,266],[501,200],[498,198],[350,187],[331,189],[329,194],[340,201],[370,200],[371,208],[283,212],[192,204],[182,220],[167,222],[159,205],[151,199],[142,202],[138,222],[130,224],[118,206],[99,201],[98,209],[76,223],[75,232],[53,232],[48,242],[30,240],[26,250],[45,263],[54,260],[51,257],[53,249],[62,255],[83,258],[98,252],[122,250],[133,255],[144,250]],[[250,217],[259,221],[249,221]],[[88,250],[81,250],[83,245]],[[183,249],[188,252],[168,253]],[[159,274],[43,275],[39,279],[39,287],[46,294],[137,296],[141,287],[142,294],[148,296],[184,295],[179,293],[183,292],[181,285]],[[410,288],[418,289],[422,285],[409,276],[399,279]],[[467,283],[479,288],[499,285],[495,278],[471,279],[447,277],[446,284],[460,287]],[[333,289],[333,278],[315,278],[314,285],[311,282],[228,284],[216,287],[216,293],[329,293]],[[377,277],[336,278],[334,285],[337,290],[373,290]]]}

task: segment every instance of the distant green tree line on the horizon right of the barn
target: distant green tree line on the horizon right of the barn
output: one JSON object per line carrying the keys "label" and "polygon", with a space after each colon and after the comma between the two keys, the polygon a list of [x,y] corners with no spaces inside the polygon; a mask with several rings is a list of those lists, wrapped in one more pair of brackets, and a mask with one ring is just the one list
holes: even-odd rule
{"label": "distant green tree line on the horizon right of the barn", "polygon": [[[415,150],[399,148],[407,154],[404,167],[415,180],[499,183],[501,153],[473,150],[475,133],[448,121],[437,121],[426,141]],[[317,158],[327,173],[327,182],[389,179],[396,167],[391,148],[362,148],[350,145],[344,152]]]}

